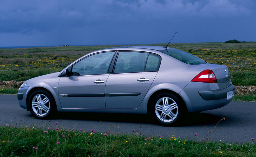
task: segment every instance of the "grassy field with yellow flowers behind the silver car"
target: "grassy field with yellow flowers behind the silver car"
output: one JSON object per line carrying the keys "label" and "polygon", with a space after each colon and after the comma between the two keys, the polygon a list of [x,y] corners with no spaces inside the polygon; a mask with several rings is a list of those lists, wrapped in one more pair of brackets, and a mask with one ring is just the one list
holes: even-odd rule
{"label": "grassy field with yellow flowers behind the silver car", "polygon": [[[150,44],[165,46],[166,44]],[[118,45],[124,46],[124,45]],[[25,81],[44,74],[57,72],[71,62],[94,50],[117,47],[33,47],[0,49],[0,81]],[[256,42],[246,43],[178,43],[169,47],[184,50],[213,64],[226,65],[236,86],[256,85]],[[0,87],[1,88],[1,87]],[[19,87],[0,89],[0,93],[17,93]],[[256,91],[250,96],[235,95],[237,100],[256,100]]]}

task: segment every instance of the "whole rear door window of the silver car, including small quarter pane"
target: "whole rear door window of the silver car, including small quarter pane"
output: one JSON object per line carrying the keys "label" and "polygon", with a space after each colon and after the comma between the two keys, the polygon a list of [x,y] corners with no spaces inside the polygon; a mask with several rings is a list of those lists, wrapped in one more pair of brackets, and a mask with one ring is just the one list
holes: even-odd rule
{"label": "whole rear door window of the silver car, including small quarter pane", "polygon": [[160,57],[143,52],[119,52],[114,73],[157,71]]}

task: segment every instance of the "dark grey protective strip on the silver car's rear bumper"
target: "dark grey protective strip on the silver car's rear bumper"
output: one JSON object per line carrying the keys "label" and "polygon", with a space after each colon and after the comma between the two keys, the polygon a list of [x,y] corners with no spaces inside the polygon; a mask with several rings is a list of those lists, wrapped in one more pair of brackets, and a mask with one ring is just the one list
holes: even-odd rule
{"label": "dark grey protective strip on the silver car's rear bumper", "polygon": [[227,98],[227,92],[229,91],[233,91],[233,94],[235,94],[235,86],[233,84],[230,84],[228,87],[224,89],[211,90],[211,91],[198,91],[198,93],[204,100],[219,100],[219,99]]}

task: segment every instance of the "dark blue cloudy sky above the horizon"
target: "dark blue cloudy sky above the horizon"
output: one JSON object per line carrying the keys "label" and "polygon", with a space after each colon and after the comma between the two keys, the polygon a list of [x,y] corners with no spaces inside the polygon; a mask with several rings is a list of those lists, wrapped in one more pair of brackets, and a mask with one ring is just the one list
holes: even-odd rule
{"label": "dark blue cloudy sky above the horizon", "polygon": [[255,0],[1,0],[0,47],[256,41]]}

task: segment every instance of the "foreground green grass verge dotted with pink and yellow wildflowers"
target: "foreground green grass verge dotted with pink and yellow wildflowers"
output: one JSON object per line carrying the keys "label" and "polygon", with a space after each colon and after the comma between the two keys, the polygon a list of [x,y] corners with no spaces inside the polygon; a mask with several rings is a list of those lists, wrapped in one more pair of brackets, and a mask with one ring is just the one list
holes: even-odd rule
{"label": "foreground green grass verge dotted with pink and yellow wildflowers", "polygon": [[[42,127],[42,126],[41,126]],[[52,124],[40,129],[36,124],[26,127],[0,127],[1,156],[256,156],[255,141],[245,144],[143,137],[139,132],[119,133],[119,127],[106,132],[69,130]],[[212,132],[213,133],[213,132]],[[64,136],[64,137],[63,137]]]}

